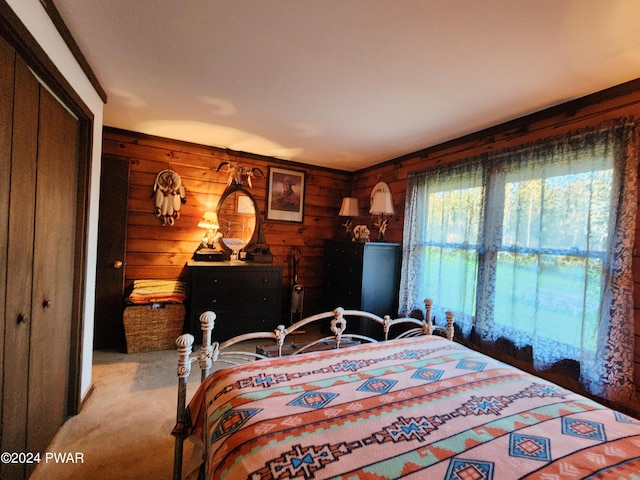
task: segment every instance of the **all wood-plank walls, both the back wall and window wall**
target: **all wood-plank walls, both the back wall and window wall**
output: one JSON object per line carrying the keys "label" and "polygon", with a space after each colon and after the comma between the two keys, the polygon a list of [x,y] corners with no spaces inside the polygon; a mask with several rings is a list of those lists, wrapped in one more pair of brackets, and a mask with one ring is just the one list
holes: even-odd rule
{"label": "all wood-plank walls, both the back wall and window wall", "polygon": [[[288,307],[286,292],[292,281],[291,253],[299,248],[302,252],[299,281],[305,285],[305,311],[317,311],[322,296],[322,239],[340,238],[343,234],[337,217],[342,197],[352,195],[359,199],[361,216],[354,220],[372,228],[373,219],[367,213],[369,196],[377,182],[387,182],[395,206],[387,239],[402,242],[406,181],[410,172],[561,135],[620,117],[640,117],[640,80],[389,160],[355,174],[106,129],[104,153],[125,157],[131,163],[126,283],[130,284],[136,278],[187,278],[185,262],[202,237],[197,223],[205,210],[215,207],[226,185],[226,175],[215,172],[220,162],[240,161],[262,168],[265,173],[269,165],[285,165],[302,170],[307,175],[304,222],[265,222],[265,236],[275,261],[286,267],[283,280],[285,308]],[[166,168],[177,171],[187,188],[187,204],[183,205],[182,217],[173,227],[162,227],[153,215],[153,182],[156,174]],[[257,181],[251,191],[264,218],[266,179]],[[640,213],[635,233],[636,245],[640,245]],[[375,240],[375,233],[372,238]],[[636,282],[635,379],[636,385],[640,386],[639,247],[634,249],[633,275]]]}

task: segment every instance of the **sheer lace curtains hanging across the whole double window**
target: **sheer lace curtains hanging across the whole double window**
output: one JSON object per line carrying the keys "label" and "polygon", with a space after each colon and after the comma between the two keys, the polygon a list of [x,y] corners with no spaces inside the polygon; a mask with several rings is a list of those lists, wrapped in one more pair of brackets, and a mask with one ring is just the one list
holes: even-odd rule
{"label": "sheer lace curtains hanging across the whole double window", "polygon": [[580,363],[581,385],[633,398],[634,128],[605,128],[410,176],[401,311],[434,300],[463,335]]}

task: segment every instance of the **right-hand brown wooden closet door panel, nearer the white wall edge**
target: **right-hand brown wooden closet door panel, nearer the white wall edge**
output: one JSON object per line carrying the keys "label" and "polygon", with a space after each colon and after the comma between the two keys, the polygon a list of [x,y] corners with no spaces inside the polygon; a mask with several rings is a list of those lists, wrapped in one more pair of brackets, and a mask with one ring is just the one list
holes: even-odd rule
{"label": "right-hand brown wooden closet door panel, nearer the white wall edge", "polygon": [[79,125],[40,87],[27,450],[43,452],[67,416]]}

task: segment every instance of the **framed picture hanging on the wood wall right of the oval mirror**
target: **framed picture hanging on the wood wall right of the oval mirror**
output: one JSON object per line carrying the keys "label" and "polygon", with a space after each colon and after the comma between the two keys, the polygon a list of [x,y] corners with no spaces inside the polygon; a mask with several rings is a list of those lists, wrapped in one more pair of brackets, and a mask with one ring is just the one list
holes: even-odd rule
{"label": "framed picture hanging on the wood wall right of the oval mirror", "polygon": [[304,217],[305,173],[269,167],[267,220],[302,222]]}

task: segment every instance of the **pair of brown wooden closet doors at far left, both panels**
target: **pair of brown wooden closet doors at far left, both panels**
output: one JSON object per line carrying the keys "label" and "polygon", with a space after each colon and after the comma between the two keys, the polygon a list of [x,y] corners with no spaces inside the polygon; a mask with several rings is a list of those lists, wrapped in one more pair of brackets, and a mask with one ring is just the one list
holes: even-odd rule
{"label": "pair of brown wooden closet doors at far left, both panels", "polygon": [[[9,122],[0,134],[1,161],[9,165],[8,201],[0,197],[8,207],[0,217],[6,232],[0,450],[44,452],[68,415],[79,123],[0,44],[0,82],[9,92],[0,98],[0,117]],[[0,478],[27,478],[35,466],[0,464]]]}

